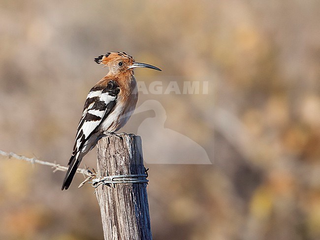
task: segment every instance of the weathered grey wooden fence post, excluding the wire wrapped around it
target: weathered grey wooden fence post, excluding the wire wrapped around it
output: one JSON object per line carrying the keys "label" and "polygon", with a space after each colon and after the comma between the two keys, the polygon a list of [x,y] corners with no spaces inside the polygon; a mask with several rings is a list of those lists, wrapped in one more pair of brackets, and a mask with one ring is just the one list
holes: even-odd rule
{"label": "weathered grey wooden fence post, excluding the wire wrapped around it", "polygon": [[[97,178],[145,174],[140,136],[110,135],[97,143]],[[146,183],[96,188],[105,240],[152,240]]]}

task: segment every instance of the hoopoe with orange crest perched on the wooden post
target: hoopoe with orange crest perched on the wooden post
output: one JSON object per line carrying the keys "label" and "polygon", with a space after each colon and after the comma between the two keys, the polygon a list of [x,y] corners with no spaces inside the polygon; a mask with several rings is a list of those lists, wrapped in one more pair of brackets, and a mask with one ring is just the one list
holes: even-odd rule
{"label": "hoopoe with orange crest perched on the wooden post", "polygon": [[136,62],[125,52],[109,52],[95,61],[107,66],[109,72],[87,96],[62,190],[68,189],[82,158],[96,146],[99,138],[118,131],[131,117],[138,101],[134,69],[144,67],[161,71],[153,65]]}

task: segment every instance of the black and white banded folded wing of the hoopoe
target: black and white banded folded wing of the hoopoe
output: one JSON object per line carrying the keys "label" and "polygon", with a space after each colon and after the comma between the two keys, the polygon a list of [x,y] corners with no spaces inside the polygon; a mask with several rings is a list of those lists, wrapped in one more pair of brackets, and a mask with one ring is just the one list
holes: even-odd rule
{"label": "black and white banded folded wing of the hoopoe", "polygon": [[119,92],[119,86],[113,80],[109,81],[107,87],[96,86],[90,90],[78,125],[73,156],[84,147],[90,136],[96,133],[100,123],[110,114]]}

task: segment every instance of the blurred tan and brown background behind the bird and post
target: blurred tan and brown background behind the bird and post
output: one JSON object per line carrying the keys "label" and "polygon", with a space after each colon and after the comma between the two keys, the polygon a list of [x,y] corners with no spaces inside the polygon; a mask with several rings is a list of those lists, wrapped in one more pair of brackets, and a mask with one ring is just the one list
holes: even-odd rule
{"label": "blurred tan and brown background behind the bird and post", "polygon": [[[125,51],[163,70],[136,70],[163,91],[140,89],[123,129],[142,136],[154,240],[320,239],[319,0],[1,0],[0,23],[1,150],[66,165],[107,73],[94,58]],[[164,94],[172,81],[200,92]],[[1,240],[103,238],[83,176],[61,191],[63,172],[0,169]]]}

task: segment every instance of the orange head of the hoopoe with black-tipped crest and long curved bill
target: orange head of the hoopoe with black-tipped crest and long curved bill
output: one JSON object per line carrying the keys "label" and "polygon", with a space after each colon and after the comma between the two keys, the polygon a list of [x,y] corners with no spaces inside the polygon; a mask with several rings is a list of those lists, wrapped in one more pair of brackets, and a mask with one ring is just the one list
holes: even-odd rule
{"label": "orange head of the hoopoe with black-tipped crest and long curved bill", "polygon": [[96,63],[104,64],[109,67],[109,73],[119,74],[122,72],[133,72],[133,69],[136,67],[146,67],[161,71],[160,68],[153,65],[141,62],[135,62],[134,59],[127,55],[125,52],[112,52],[105,55],[100,55],[95,58]]}

